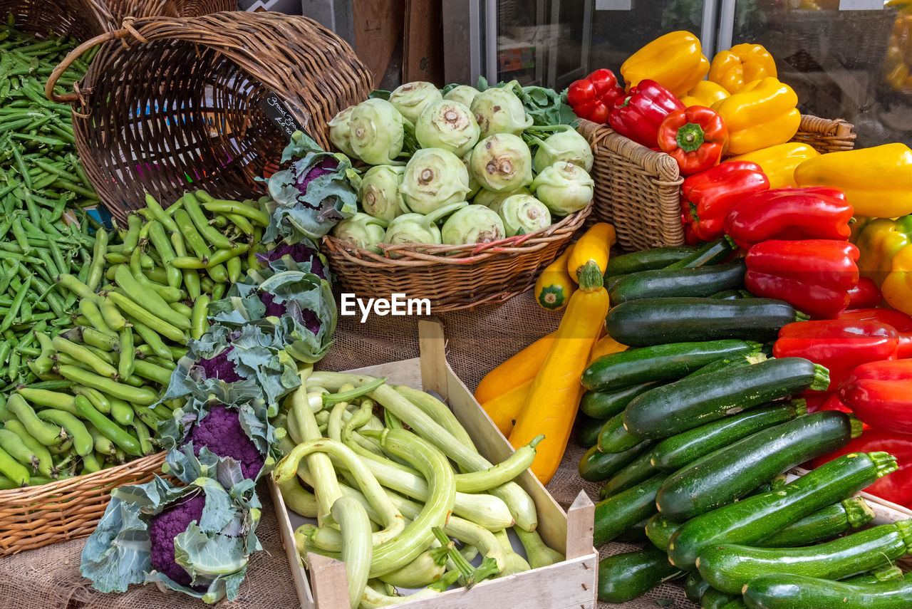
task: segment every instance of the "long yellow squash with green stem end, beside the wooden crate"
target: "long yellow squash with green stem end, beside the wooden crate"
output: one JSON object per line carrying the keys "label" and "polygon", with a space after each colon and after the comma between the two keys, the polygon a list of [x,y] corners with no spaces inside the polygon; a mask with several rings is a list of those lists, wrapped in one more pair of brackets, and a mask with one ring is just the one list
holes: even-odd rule
{"label": "long yellow squash with green stem end, beside the wooden crate", "polygon": [[602,286],[602,272],[596,263],[586,263],[579,289],[570,297],[557,328],[554,346],[535,376],[510,434],[510,443],[517,449],[544,434],[532,463],[535,477],[543,484],[551,480],[564,457],[583,392],[579,380],[607,312],[608,293]]}

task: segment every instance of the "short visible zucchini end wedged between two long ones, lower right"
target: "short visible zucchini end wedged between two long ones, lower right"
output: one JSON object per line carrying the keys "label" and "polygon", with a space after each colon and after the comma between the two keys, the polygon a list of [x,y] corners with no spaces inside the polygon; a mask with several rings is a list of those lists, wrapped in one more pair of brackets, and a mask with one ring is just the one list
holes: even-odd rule
{"label": "short visible zucchini end wedged between two long ones, lower right", "polygon": [[793,522],[760,545],[764,548],[789,548],[809,545],[841,535],[874,520],[874,510],[861,497],[849,497],[821,511]]}

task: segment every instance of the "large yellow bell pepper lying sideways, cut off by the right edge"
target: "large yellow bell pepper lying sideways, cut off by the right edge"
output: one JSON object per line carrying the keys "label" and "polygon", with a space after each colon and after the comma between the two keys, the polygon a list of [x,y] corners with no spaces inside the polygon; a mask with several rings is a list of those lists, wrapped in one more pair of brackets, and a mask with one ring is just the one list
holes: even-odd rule
{"label": "large yellow bell pepper lying sideways, cut off by the right edge", "polygon": [[904,216],[912,213],[912,150],[893,143],[822,154],[795,168],[795,182],[838,188],[860,216]]}

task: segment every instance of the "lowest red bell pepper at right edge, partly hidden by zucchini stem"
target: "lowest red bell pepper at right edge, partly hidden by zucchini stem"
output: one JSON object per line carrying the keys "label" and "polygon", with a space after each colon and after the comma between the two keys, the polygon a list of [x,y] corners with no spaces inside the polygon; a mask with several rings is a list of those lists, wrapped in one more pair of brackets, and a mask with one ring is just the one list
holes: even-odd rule
{"label": "lowest red bell pepper at right edge, partly hidden by zucchini stem", "polygon": [[896,457],[899,469],[877,480],[866,488],[865,492],[907,508],[912,507],[912,436],[892,431],[867,429],[842,449],[814,459],[814,467],[819,468],[824,463],[849,453],[877,450],[884,450]]}

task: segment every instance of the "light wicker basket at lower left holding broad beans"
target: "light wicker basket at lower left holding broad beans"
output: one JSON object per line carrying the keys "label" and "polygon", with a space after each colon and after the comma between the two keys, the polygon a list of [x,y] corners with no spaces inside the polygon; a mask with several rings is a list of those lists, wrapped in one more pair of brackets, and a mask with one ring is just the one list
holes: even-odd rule
{"label": "light wicker basket at lower left holding broad beans", "polygon": [[0,490],[0,556],[91,534],[111,490],[152,480],[164,460],[160,452],[67,480]]}

